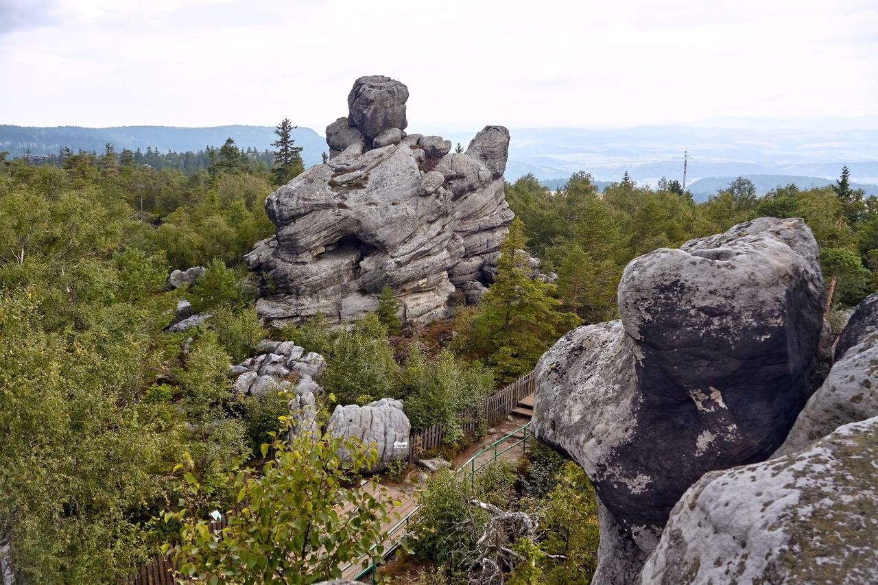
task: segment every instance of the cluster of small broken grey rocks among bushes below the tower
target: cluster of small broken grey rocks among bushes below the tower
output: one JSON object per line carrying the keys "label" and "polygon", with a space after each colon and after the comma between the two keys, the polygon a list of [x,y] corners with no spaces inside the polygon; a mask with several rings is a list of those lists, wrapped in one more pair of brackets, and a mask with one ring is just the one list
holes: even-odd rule
{"label": "cluster of small broken grey rocks among bushes below the tower", "polygon": [[321,394],[315,381],[326,370],[326,360],[319,353],[306,352],[292,342],[263,339],[256,345],[263,352],[232,366],[234,390],[239,394],[259,396],[269,391],[296,395]]}

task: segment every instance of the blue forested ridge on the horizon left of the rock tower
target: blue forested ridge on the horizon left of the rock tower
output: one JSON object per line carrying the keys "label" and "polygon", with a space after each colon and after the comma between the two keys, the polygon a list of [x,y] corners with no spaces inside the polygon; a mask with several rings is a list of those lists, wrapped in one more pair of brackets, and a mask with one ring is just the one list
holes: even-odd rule
{"label": "blue forested ridge on the horizon left of the rock tower", "polygon": [[[186,152],[219,147],[232,138],[238,148],[271,149],[277,140],[274,126],[212,126],[209,128],[180,128],[174,126],[118,126],[113,128],[84,128],[82,126],[8,126],[0,125],[0,151],[12,156],[54,155],[59,148],[74,151],[104,152],[111,144],[117,151],[123,148],[145,151],[148,147],[160,152],[173,150]],[[304,148],[302,159],[306,167],[320,162],[320,155],[327,150],[323,136],[311,128],[295,128],[291,137],[296,146]]]}

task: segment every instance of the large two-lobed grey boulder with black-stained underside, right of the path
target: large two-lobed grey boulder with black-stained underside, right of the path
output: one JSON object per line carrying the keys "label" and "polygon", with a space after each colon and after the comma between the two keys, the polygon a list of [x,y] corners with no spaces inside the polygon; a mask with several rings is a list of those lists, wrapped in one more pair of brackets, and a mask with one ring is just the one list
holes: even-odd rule
{"label": "large two-lobed grey boulder with black-stained underside, right of the path", "polygon": [[534,430],[583,466],[648,553],[702,473],[766,459],[807,401],[817,244],[802,220],[754,220],[638,257],[618,298],[620,321],[576,329],[541,358]]}

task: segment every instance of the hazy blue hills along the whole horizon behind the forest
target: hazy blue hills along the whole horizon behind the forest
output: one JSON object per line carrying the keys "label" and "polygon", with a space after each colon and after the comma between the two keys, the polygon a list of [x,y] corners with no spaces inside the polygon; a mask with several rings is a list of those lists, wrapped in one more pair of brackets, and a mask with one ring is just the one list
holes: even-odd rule
{"label": "hazy blue hills along the whole horizon behind the forest", "polygon": [[[722,120],[720,120],[722,121]],[[572,173],[584,170],[596,181],[622,179],[628,171],[638,184],[658,183],[659,178],[683,178],[683,152],[687,162],[687,188],[703,200],[725,187],[734,177],[750,177],[764,193],[779,184],[801,188],[831,183],[846,165],[851,179],[867,192],[878,193],[878,129],[759,129],[740,120],[707,126],[639,126],[615,130],[581,128],[519,128],[510,130],[506,177],[515,181],[531,173],[541,181],[563,184]],[[736,124],[738,127],[736,127]],[[722,126],[722,127],[720,127]],[[423,132],[409,128],[412,132]],[[452,144],[464,148],[475,132],[444,133]],[[121,126],[38,128],[0,126],[0,150],[11,155],[56,153],[61,147],[100,152],[111,143],[117,150],[148,146],[175,151],[219,147],[228,137],[241,148],[270,149],[276,139],[271,126]],[[293,131],[303,147],[306,165],[320,162],[327,151],[323,136],[310,128]]]}

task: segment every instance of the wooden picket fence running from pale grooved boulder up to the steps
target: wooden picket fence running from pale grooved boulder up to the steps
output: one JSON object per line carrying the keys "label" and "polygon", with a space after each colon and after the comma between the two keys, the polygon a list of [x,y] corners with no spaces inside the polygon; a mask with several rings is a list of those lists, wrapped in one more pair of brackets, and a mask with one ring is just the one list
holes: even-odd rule
{"label": "wooden picket fence running from pale grooved boulder up to the steps", "polygon": [[[518,404],[518,401],[533,393],[534,372],[530,371],[497,394],[489,397],[481,408],[467,408],[460,413],[461,427],[464,433],[471,435],[479,430],[479,426],[482,424],[491,424],[506,418]],[[445,429],[441,424],[434,424],[424,430],[412,431],[408,441],[408,444],[411,445],[408,451],[408,462],[414,463],[421,456],[421,453],[439,447],[444,438]]]}

